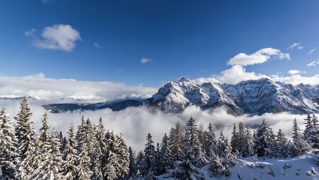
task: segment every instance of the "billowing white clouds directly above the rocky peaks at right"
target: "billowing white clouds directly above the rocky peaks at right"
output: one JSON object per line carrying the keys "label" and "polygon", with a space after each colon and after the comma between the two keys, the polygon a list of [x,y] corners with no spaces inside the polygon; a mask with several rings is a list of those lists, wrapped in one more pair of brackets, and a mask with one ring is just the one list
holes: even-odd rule
{"label": "billowing white clouds directly above the rocky peaks at right", "polygon": [[[220,74],[215,74],[209,77],[197,78],[195,81],[196,83],[200,84],[204,82],[235,84],[241,82],[242,80],[256,80],[259,78],[269,78],[275,81],[291,83],[292,85],[297,85],[299,83],[305,82],[310,85],[319,84],[319,74],[316,74],[314,76],[301,76],[301,73],[306,72],[292,70],[289,71],[289,74],[291,76],[280,76],[278,74],[265,75],[262,73],[255,73],[254,71],[249,72],[245,68],[245,66],[247,65],[262,64],[272,57],[277,57],[279,59],[290,59],[289,54],[282,53],[279,49],[273,48],[260,49],[259,51],[254,52],[250,55],[240,53],[228,61],[229,65],[233,65],[230,68],[225,69],[224,71],[220,72]],[[315,64],[319,64],[319,60],[313,61],[307,66],[315,66]]]}

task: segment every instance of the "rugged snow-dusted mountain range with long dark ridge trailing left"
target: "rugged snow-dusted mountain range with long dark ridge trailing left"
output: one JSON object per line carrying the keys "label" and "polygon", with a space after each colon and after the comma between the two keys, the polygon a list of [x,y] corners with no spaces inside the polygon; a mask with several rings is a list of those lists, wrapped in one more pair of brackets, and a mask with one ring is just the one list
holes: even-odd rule
{"label": "rugged snow-dusted mountain range with long dark ridge trailing left", "polygon": [[123,100],[98,104],[47,104],[51,112],[72,110],[96,110],[110,108],[113,111],[126,107],[147,106],[161,109],[163,112],[180,113],[189,105],[201,109],[224,107],[228,113],[264,114],[291,112],[293,114],[318,113],[319,85],[311,86],[275,82],[268,78],[245,80],[235,85],[221,83],[196,84],[194,81],[181,78],[169,82],[152,97],[144,101]]}

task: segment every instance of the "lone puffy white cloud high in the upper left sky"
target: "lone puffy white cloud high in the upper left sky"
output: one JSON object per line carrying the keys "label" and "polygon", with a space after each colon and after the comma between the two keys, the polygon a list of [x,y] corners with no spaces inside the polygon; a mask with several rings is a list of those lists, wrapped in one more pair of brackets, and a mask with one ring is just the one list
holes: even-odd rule
{"label": "lone puffy white cloud high in the upper left sky", "polygon": [[53,25],[43,29],[41,38],[33,38],[32,45],[40,49],[62,50],[71,52],[81,40],[79,32],[71,25]]}

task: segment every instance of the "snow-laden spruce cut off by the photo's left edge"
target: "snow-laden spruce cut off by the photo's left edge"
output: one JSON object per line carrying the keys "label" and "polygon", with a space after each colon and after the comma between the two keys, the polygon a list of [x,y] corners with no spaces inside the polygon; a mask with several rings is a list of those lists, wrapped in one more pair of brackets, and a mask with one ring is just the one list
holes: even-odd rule
{"label": "snow-laden spruce cut off by the photo's left edge", "polygon": [[16,136],[11,127],[11,120],[6,109],[0,111],[0,179],[16,179],[18,150]]}

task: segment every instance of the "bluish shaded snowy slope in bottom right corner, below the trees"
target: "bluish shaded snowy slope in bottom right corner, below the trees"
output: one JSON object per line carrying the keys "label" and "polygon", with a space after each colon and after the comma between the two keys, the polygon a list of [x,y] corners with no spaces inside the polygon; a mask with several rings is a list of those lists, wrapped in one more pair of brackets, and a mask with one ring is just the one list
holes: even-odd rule
{"label": "bluish shaded snowy slope in bottom right corner, below the trees", "polygon": [[[247,157],[238,160],[235,167],[230,168],[230,176],[211,177],[208,167],[203,167],[201,172],[205,179],[218,180],[295,180],[295,179],[319,179],[319,167],[315,165],[315,156],[306,153],[298,157],[262,159]],[[159,179],[166,175],[159,176]]]}

